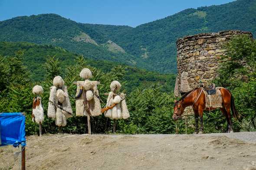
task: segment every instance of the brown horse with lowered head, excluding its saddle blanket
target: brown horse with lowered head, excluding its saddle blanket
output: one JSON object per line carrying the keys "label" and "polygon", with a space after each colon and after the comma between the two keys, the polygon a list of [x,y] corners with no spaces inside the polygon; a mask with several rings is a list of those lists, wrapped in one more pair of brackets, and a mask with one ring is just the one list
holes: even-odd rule
{"label": "brown horse with lowered head, excluding its saddle blanket", "polygon": [[[175,101],[174,103],[174,114],[172,118],[176,121],[179,117],[181,117],[184,109],[187,106],[192,106],[195,114],[195,125],[196,130],[194,134],[198,134],[198,116],[200,117],[201,127],[199,134],[203,133],[203,110],[206,110],[206,101],[205,101],[205,94],[201,92],[202,88],[196,88],[194,90],[190,90],[189,92],[185,93],[181,99]],[[223,115],[226,116],[226,121],[228,124],[227,132],[233,132],[232,123],[231,123],[231,114],[230,114],[230,107],[234,117],[237,117],[238,113],[235,108],[234,99],[232,94],[229,90],[225,88],[220,89],[221,96],[222,96],[222,111]],[[216,108],[210,108],[213,110]],[[209,110],[209,109],[207,109]]]}

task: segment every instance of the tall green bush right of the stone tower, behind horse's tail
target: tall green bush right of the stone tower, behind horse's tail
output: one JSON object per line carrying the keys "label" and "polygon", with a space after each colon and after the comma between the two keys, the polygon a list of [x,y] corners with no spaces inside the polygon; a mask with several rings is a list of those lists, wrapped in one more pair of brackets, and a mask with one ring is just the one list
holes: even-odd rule
{"label": "tall green bush right of the stone tower, behind horse's tail", "polygon": [[256,41],[247,35],[231,38],[224,45],[228,60],[221,64],[217,85],[227,87],[240,114],[236,129],[256,130]]}

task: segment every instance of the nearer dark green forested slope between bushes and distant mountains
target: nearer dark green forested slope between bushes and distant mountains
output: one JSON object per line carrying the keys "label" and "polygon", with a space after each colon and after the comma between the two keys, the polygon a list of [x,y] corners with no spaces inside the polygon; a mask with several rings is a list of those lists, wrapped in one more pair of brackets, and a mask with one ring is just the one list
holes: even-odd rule
{"label": "nearer dark green forested slope between bushes and distant mountains", "polygon": [[[30,70],[31,78],[39,81],[45,79],[46,70],[43,69],[43,63],[47,57],[55,56],[59,60],[60,66],[63,68],[72,66],[79,55],[67,51],[64,48],[54,47],[53,45],[37,45],[30,42],[0,42],[0,55],[13,56],[17,51],[24,52],[24,64]],[[86,63],[91,67],[95,67],[103,72],[111,71],[115,66],[122,65],[125,68],[126,74],[124,80],[128,81],[127,92],[137,89],[138,87],[145,88],[151,86],[152,83],[159,82],[162,91],[171,91],[174,89],[175,75],[160,74],[158,72],[138,69],[136,67],[125,66],[123,64],[85,59]]]}

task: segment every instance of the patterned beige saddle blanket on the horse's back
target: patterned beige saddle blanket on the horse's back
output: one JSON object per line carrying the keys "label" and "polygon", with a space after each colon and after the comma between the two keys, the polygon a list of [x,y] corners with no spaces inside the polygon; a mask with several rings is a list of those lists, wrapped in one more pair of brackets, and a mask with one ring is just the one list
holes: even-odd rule
{"label": "patterned beige saddle blanket on the horse's back", "polygon": [[207,91],[203,90],[205,95],[206,108],[222,108],[222,96],[219,88],[216,88],[216,93],[208,95]]}

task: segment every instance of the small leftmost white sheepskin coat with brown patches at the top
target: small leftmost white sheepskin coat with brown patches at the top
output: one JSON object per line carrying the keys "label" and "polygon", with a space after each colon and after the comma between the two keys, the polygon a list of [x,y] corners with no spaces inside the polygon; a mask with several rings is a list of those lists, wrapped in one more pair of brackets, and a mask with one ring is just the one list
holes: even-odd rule
{"label": "small leftmost white sheepskin coat with brown patches at the top", "polygon": [[34,116],[34,118],[32,118],[32,121],[36,123],[42,123],[44,121],[44,114],[43,114],[43,106],[42,106],[42,102],[41,102],[41,97],[34,97],[33,99],[33,105],[35,103],[40,103],[38,106],[35,106],[36,108],[32,109],[32,114]]}

